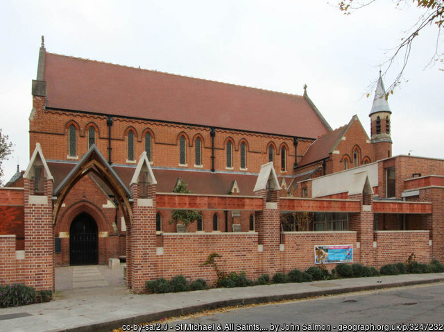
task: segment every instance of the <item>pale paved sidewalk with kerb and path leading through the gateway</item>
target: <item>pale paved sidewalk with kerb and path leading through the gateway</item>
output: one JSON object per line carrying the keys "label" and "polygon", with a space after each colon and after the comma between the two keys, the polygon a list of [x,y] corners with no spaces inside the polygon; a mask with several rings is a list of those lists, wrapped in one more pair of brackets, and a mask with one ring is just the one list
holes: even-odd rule
{"label": "pale paved sidewalk with kerb and path leading through the gateway", "polygon": [[110,331],[123,324],[153,322],[223,306],[444,282],[444,273],[403,274],[169,294],[132,294],[119,285],[123,282],[119,270],[101,266],[90,268],[56,270],[56,287],[59,287],[56,289],[65,289],[56,291],[55,300],[51,302],[0,309],[0,331]]}

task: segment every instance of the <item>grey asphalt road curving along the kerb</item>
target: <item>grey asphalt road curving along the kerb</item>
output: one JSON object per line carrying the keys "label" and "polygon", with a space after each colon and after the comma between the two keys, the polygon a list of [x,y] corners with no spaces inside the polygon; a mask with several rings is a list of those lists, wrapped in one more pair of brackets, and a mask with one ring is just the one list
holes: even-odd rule
{"label": "grey asphalt road curving along the kerb", "polygon": [[387,332],[444,331],[443,323],[444,283],[440,283],[253,306],[157,327],[169,331]]}

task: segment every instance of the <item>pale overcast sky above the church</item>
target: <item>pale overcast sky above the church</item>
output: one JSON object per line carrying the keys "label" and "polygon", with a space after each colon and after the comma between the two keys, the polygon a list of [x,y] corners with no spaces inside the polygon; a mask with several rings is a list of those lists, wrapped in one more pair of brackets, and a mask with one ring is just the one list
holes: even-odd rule
{"label": "pale overcast sky above the church", "polygon": [[[407,1],[410,3],[411,1]],[[4,181],[29,160],[31,80],[40,36],[46,51],[255,88],[307,92],[332,128],[357,114],[369,133],[379,64],[421,13],[380,0],[345,16],[336,2],[2,1],[0,128],[14,142]],[[415,41],[392,110],[393,155],[444,158],[443,83],[427,66],[436,28]],[[440,44],[443,52],[442,43]],[[444,65],[441,65],[444,67]],[[382,68],[384,71],[384,67]],[[391,83],[399,63],[389,69]],[[298,124],[289,124],[289,126]],[[33,149],[32,147],[31,149]]]}

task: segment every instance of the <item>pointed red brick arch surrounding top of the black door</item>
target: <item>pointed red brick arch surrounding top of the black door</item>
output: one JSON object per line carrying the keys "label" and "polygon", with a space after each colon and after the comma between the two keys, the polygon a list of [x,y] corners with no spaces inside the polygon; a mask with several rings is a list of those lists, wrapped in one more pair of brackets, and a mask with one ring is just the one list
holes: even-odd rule
{"label": "pointed red brick arch surrounding top of the black door", "polygon": [[75,217],[80,215],[80,213],[84,212],[94,219],[97,224],[97,231],[110,231],[110,227],[108,225],[108,222],[106,222],[105,215],[103,215],[102,210],[89,201],[78,201],[69,206],[65,213],[63,213],[60,218],[58,218],[58,222],[60,223],[58,226],[59,231],[69,232],[69,226],[71,226],[71,222],[74,220]]}

